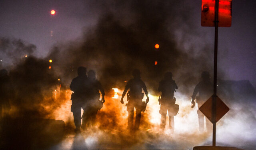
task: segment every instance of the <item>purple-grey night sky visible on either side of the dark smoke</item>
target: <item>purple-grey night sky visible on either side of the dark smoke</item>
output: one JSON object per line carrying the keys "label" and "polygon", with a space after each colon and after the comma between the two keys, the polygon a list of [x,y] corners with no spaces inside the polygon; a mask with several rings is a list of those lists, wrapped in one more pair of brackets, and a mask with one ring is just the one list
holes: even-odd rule
{"label": "purple-grey night sky visible on either side of the dark smoke", "polygon": [[[114,2],[82,0],[2,0],[0,2],[0,36],[19,38],[34,44],[36,45],[34,55],[44,57],[53,44],[80,38],[84,31],[96,24],[99,16],[112,8],[112,5],[115,5]],[[207,42],[214,51],[214,27],[200,26],[201,1],[186,0],[184,5],[192,10],[187,17],[193,20],[193,28],[202,33],[195,36],[204,36],[205,41],[195,41],[194,37],[183,38],[193,42],[194,45]],[[234,0],[232,26],[219,28],[218,40],[218,68],[225,70],[225,79],[250,80],[254,87],[256,86],[255,6],[254,0]],[[50,15],[52,9],[56,10],[54,16]],[[184,8],[180,11],[186,12]],[[53,31],[52,36],[51,31]]]}

